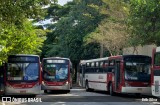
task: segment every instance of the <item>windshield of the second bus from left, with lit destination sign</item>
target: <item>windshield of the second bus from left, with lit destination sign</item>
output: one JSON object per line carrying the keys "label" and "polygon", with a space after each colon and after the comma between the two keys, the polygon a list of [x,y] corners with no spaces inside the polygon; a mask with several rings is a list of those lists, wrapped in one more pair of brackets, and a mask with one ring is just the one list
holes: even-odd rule
{"label": "windshield of the second bus from left, with lit destination sign", "polygon": [[44,65],[43,78],[47,81],[64,81],[68,78],[67,64],[47,63]]}

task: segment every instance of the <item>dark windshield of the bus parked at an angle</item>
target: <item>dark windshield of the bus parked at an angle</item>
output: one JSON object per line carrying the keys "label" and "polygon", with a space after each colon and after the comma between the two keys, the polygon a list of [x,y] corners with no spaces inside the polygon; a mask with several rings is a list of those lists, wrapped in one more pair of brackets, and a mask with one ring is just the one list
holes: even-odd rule
{"label": "dark windshield of the bus parked at an angle", "polygon": [[150,81],[150,63],[145,62],[143,58],[141,61],[130,60],[125,62],[125,80],[131,81]]}

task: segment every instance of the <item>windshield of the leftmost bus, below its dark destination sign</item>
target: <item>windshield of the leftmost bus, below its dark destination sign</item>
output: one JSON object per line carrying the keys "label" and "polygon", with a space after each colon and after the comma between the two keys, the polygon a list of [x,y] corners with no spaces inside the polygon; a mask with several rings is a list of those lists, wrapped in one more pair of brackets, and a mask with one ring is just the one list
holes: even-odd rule
{"label": "windshield of the leftmost bus, below its dark destination sign", "polygon": [[34,81],[38,80],[38,63],[8,63],[8,81]]}

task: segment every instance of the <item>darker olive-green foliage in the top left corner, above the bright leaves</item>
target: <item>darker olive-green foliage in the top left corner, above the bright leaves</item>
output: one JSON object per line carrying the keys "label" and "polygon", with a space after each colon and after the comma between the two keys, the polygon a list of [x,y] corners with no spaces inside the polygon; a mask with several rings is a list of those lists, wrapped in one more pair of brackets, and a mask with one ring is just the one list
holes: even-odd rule
{"label": "darker olive-green foliage in the top left corner, above the bright leaves", "polygon": [[57,0],[0,0],[0,23],[15,25],[24,18],[42,19],[42,7]]}

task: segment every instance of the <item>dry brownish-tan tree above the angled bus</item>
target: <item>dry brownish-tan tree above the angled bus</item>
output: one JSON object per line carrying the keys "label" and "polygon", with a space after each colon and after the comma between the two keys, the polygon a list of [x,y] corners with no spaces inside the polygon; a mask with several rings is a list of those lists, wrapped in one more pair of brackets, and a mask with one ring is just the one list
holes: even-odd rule
{"label": "dry brownish-tan tree above the angled bus", "polygon": [[[105,0],[108,4],[106,11],[108,16],[99,24],[98,28],[85,37],[86,43],[97,42],[101,49],[106,48],[111,55],[122,53],[129,37],[127,32],[127,5],[119,0]],[[103,57],[103,51],[100,52]]]}

